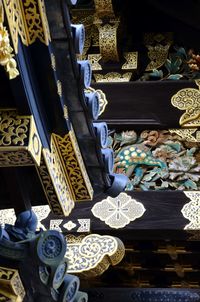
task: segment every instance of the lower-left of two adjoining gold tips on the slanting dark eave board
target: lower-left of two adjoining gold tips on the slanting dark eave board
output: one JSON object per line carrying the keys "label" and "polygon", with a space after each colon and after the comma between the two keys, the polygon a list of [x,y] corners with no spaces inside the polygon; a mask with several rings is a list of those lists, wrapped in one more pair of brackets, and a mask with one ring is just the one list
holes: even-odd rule
{"label": "lower-left of two adjoining gold tips on the slanting dark eave board", "polygon": [[74,201],[53,139],[51,152],[43,149],[41,164],[37,170],[53,213],[68,216],[74,208]]}

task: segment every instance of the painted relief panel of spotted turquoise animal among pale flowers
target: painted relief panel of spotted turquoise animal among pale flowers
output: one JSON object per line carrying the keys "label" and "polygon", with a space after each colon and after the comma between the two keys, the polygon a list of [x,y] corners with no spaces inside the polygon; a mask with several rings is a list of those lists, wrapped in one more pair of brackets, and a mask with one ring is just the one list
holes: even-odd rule
{"label": "painted relief panel of spotted turquoise animal among pale flowers", "polygon": [[199,190],[196,130],[126,131],[109,137],[115,172],[130,179],[127,190]]}

